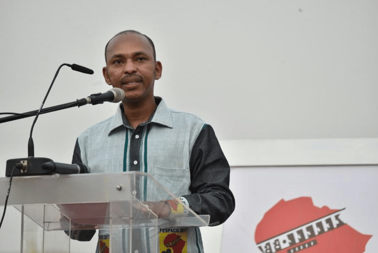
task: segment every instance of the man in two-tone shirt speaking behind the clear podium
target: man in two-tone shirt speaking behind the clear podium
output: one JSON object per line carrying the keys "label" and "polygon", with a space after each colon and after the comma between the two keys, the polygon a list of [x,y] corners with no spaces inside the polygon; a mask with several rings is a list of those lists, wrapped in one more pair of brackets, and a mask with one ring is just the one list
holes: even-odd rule
{"label": "man in two-tone shirt speaking behind the clear podium", "polygon": [[[160,97],[154,97],[162,64],[156,61],[151,39],[132,30],[118,33],[105,47],[105,61],[106,83],[123,89],[125,97],[115,116],[78,137],[73,163],[82,162],[95,173],[149,173],[180,197],[155,203],[151,208],[159,217],[169,216],[175,204],[184,203],[197,214],[209,214],[210,225],[223,223],[235,206],[228,187],[228,162],[210,125],[192,114],[168,109]],[[148,186],[144,190],[149,191]],[[170,238],[182,246],[180,252],[203,252],[199,229],[182,231],[160,233],[159,252],[175,252]],[[93,234],[74,231],[71,238],[87,241]],[[108,238],[106,231],[99,231],[98,251]],[[141,241],[145,240],[142,235]]]}

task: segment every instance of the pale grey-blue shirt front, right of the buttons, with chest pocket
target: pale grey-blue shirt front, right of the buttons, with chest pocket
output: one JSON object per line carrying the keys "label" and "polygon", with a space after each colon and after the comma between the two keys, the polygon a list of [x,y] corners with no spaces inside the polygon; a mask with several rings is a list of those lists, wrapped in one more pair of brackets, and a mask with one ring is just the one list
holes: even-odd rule
{"label": "pale grey-blue shirt front, right of the buttons, with chest pocket", "polygon": [[[190,194],[189,160],[204,122],[192,114],[173,110],[170,110],[170,116],[174,127],[152,125],[150,129],[147,172],[180,197]],[[152,191],[147,185],[147,195]]]}

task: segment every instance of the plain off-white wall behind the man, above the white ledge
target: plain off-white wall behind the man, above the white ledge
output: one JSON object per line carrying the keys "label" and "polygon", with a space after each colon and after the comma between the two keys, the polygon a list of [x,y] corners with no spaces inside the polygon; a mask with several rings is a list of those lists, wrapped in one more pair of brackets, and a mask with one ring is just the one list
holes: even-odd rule
{"label": "plain off-white wall behind the man, above the white ledge", "polygon": [[[104,46],[134,29],[153,39],[163,63],[155,94],[205,119],[220,140],[378,137],[377,1],[0,4],[0,112],[38,109],[63,62],[95,74],[63,68],[45,106],[106,91]],[[35,155],[70,162],[76,136],[114,110],[108,103],[40,116]],[[27,155],[31,122],[0,124],[0,175],[7,159]],[[8,212],[0,240],[17,247],[18,217]]]}

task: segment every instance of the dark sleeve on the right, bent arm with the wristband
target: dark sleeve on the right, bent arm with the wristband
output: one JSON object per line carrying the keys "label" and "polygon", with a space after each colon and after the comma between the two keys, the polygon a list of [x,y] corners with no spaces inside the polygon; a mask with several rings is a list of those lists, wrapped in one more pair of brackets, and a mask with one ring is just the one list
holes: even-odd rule
{"label": "dark sleeve on the right, bent arm with the wristband", "polygon": [[197,214],[209,214],[209,226],[225,222],[235,209],[235,198],[229,189],[229,164],[210,125],[198,135],[189,166],[192,194],[183,196],[189,207]]}

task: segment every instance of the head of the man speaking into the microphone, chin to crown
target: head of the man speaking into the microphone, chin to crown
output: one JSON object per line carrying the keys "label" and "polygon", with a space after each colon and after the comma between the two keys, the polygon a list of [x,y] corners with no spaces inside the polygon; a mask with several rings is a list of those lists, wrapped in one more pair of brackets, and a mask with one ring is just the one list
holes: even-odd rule
{"label": "head of the man speaking into the microphone, chin to crown", "polygon": [[125,91],[124,102],[142,102],[153,98],[153,84],[161,77],[162,66],[153,59],[146,37],[136,33],[120,34],[107,48],[105,81]]}

